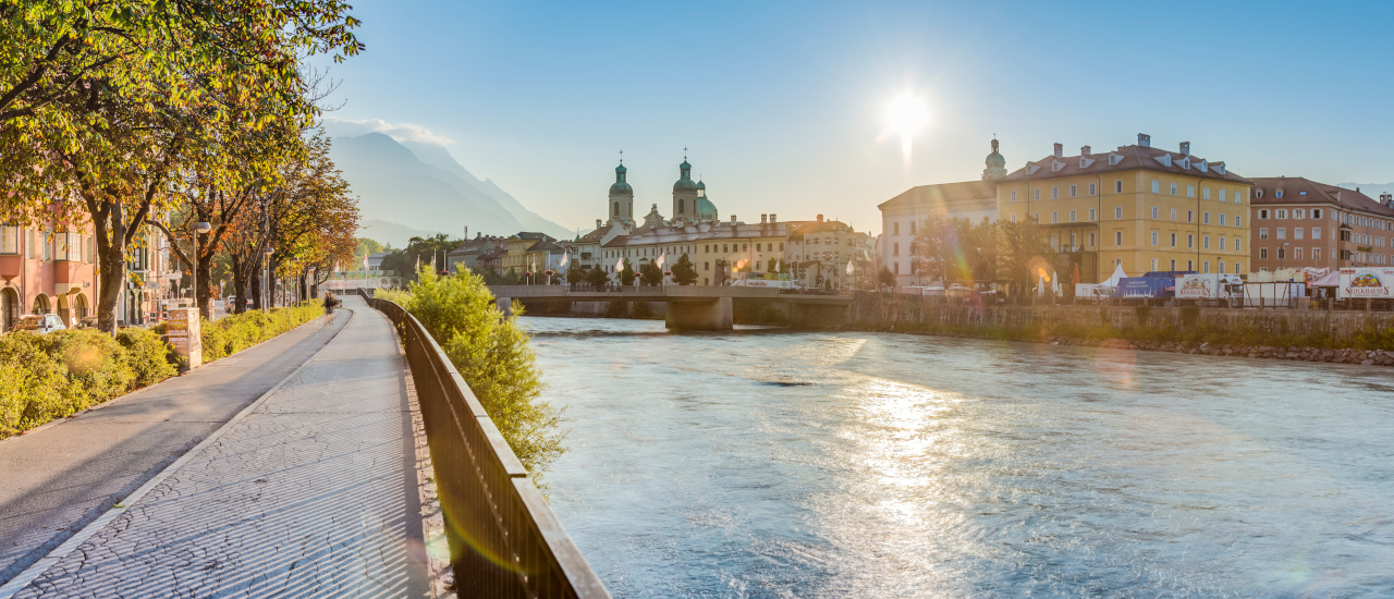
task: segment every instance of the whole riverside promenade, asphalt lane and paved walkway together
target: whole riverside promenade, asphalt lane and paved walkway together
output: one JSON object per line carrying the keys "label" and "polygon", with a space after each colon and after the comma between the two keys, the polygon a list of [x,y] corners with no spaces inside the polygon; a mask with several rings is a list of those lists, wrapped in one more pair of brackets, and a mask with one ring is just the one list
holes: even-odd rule
{"label": "whole riverside promenade, asphalt lane and paved walkway together", "polygon": [[[424,596],[406,366],[379,312],[344,306],[333,325],[0,442],[6,486],[17,479],[0,490],[0,599]],[[259,393],[205,397],[219,387]],[[202,428],[160,426],[181,418]],[[116,481],[45,467],[127,442],[151,447],[96,468]]]}

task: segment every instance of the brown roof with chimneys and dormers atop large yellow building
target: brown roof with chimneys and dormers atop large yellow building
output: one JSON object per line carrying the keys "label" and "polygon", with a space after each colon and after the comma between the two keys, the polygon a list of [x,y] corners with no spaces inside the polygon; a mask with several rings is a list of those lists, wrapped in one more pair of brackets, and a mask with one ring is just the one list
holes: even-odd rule
{"label": "brown roof with chimneys and dormers atop large yellow building", "polygon": [[[1110,156],[1115,156],[1110,160]],[[1083,157],[1085,160],[1080,160]],[[1058,169],[1057,169],[1058,166]],[[1034,169],[1033,169],[1034,167]],[[1046,156],[1027,162],[1025,167],[1012,171],[1001,181],[1034,181],[1041,178],[1072,177],[1079,174],[1118,173],[1125,170],[1153,170],[1158,173],[1185,174],[1186,177],[1210,178],[1238,184],[1250,184],[1225,169],[1223,162],[1209,162],[1199,156],[1167,152],[1151,146],[1118,146],[1112,152],[1055,157]]]}

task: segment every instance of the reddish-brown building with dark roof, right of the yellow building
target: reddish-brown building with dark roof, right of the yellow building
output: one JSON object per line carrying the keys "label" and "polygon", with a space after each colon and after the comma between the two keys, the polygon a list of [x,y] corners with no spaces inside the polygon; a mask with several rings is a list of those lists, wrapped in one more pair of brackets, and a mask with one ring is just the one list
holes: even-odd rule
{"label": "reddish-brown building with dark roof, right of the yellow building", "polygon": [[1252,270],[1394,263],[1394,198],[1379,201],[1303,177],[1256,177]]}

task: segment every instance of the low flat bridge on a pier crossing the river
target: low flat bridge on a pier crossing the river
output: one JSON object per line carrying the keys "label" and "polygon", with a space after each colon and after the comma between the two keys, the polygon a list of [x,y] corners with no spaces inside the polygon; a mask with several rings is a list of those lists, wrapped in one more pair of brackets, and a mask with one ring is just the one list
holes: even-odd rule
{"label": "low flat bridge on a pier crossing the river", "polygon": [[850,295],[785,293],[772,287],[625,286],[602,291],[573,291],[567,286],[491,286],[489,291],[502,306],[512,304],[512,300],[528,302],[665,302],[668,304],[665,323],[669,329],[676,330],[730,330],[732,302],[737,300],[785,304],[790,311],[790,322],[841,319],[848,305],[852,304]]}

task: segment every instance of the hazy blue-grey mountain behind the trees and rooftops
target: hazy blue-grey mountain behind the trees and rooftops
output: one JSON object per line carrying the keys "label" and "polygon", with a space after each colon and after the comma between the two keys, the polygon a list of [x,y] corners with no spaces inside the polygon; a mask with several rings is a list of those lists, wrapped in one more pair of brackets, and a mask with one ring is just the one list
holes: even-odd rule
{"label": "hazy blue-grey mountain behind the trees and rooftops", "polygon": [[474,177],[438,145],[404,145],[379,132],[337,135],[330,156],[360,196],[360,234],[396,248],[420,234],[460,237],[464,227],[470,227],[470,237],[569,233],[492,181]]}

